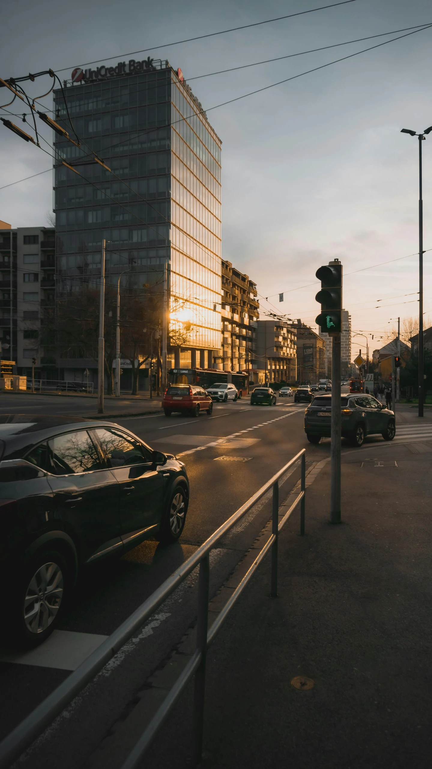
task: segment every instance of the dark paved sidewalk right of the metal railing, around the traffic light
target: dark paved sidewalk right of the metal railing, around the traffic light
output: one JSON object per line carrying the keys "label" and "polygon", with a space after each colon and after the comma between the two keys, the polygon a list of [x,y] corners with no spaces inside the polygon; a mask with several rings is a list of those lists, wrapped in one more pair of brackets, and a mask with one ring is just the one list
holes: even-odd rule
{"label": "dark paved sidewalk right of the metal railing, around the traffic light", "polygon": [[[209,650],[203,767],[430,767],[431,457],[345,454],[338,526],[325,463],[305,538],[295,514],[281,534],[279,598],[268,557]],[[298,691],[296,676],[314,687]],[[190,765],[191,694],[143,766]]]}

